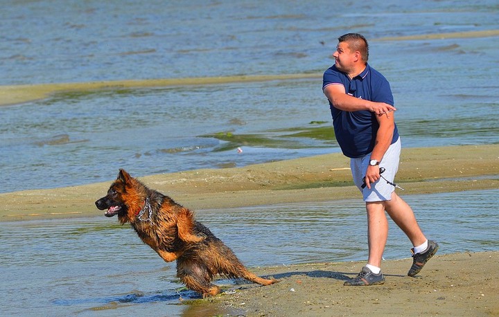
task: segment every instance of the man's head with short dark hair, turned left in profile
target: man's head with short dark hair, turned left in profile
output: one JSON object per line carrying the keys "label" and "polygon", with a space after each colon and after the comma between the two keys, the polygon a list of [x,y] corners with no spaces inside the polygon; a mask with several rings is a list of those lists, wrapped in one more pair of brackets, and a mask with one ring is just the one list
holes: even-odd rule
{"label": "man's head with short dark hair, turned left in profile", "polygon": [[333,57],[336,60],[336,68],[345,73],[365,66],[369,59],[367,39],[358,33],[347,33],[338,37],[338,46]]}

